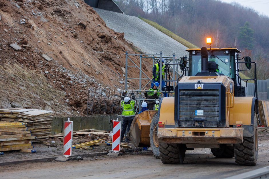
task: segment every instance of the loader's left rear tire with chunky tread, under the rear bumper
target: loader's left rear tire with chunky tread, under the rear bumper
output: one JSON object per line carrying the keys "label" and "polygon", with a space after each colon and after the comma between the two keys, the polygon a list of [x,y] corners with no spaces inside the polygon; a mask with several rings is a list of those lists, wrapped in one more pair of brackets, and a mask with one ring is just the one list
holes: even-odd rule
{"label": "loader's left rear tire with chunky tread, under the rear bumper", "polygon": [[185,159],[185,144],[159,143],[161,161],[163,164],[182,164]]}

